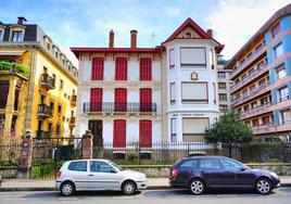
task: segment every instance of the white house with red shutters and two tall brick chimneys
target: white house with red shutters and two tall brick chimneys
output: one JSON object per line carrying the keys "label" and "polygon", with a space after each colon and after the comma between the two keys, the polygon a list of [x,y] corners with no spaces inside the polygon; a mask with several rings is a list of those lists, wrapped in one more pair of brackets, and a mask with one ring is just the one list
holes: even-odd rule
{"label": "white house with red shutters and two tall brick chimneys", "polygon": [[79,60],[76,135],[93,143],[201,141],[219,117],[216,55],[224,46],[191,18],[161,46],[72,48]]}

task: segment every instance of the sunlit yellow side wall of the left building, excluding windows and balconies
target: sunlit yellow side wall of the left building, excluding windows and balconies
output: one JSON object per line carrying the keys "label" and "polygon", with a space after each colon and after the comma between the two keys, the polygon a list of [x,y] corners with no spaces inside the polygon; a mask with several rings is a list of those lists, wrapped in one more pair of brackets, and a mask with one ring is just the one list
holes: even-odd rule
{"label": "sunlit yellow side wall of the left building, excluding windows and balconies", "polygon": [[[49,76],[56,76],[55,78],[55,88],[47,90],[41,87],[41,75],[43,74],[43,67],[47,67]],[[63,89],[60,89],[60,80],[63,80]],[[54,109],[53,109],[53,117],[45,119],[42,123],[43,131],[48,131],[49,123],[52,123],[52,135],[51,137],[56,137],[56,125],[60,124],[61,127],[61,137],[69,137],[69,118],[71,112],[74,111],[74,115],[76,113],[75,106],[71,105],[71,98],[73,95],[73,90],[75,90],[75,94],[77,91],[77,82],[74,81],[67,74],[62,71],[56,64],[54,64],[51,60],[49,60],[42,52],[38,51],[36,56],[36,75],[35,75],[35,94],[33,102],[33,119],[31,119],[31,131],[36,135],[38,130],[38,105],[40,104],[40,93],[46,93],[46,104],[50,105],[50,101],[53,100]],[[69,95],[69,99],[68,99]],[[58,113],[59,104],[62,104],[62,113]],[[73,132],[74,133],[74,132]]]}

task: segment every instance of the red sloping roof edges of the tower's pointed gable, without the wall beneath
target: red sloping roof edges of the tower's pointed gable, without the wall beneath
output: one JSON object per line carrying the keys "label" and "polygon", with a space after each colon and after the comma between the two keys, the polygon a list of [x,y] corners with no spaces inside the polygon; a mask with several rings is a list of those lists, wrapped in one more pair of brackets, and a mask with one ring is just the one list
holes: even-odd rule
{"label": "red sloping roof edges of the tower's pointed gable, without the wall beneath", "polygon": [[178,37],[178,35],[185,30],[187,27],[191,27],[202,39],[212,39],[218,46],[216,47],[216,52],[220,52],[224,49],[224,44],[220,44],[213,37],[211,37],[206,31],[204,31],[191,17],[188,17],[167,39],[165,42],[172,41]]}

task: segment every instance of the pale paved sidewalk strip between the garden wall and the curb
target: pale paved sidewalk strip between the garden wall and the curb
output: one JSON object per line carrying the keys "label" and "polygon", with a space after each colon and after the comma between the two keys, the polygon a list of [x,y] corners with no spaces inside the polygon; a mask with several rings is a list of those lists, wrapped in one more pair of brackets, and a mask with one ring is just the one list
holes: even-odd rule
{"label": "pale paved sidewalk strip between the garden wall and the curb", "polygon": [[[281,176],[281,186],[291,187],[291,176]],[[148,178],[148,190],[169,189],[167,178]],[[55,191],[54,180],[4,179],[0,191]]]}

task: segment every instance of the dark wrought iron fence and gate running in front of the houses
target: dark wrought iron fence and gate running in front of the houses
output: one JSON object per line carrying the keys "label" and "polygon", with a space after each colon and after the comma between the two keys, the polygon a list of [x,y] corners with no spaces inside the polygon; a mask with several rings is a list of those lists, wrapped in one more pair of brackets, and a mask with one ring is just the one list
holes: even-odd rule
{"label": "dark wrought iron fence and gate running in front of the houses", "polygon": [[[18,165],[20,142],[0,143],[0,166]],[[224,144],[207,142],[104,143],[93,148],[93,158],[106,158],[117,164],[173,164],[189,155],[231,156],[243,163],[291,162],[291,142]],[[81,138],[50,138],[33,140],[33,174],[45,174],[40,166],[81,158]],[[58,165],[54,170],[58,170]],[[43,167],[45,168],[45,167]],[[49,167],[48,167],[49,168]],[[51,171],[48,170],[47,171]]]}

